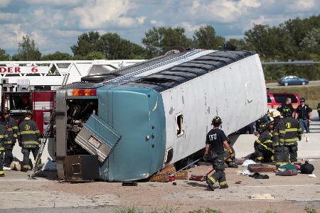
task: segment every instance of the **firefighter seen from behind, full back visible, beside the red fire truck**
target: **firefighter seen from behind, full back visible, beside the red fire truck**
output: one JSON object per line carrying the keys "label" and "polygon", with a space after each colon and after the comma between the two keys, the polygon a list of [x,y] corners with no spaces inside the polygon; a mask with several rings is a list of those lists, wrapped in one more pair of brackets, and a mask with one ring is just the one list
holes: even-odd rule
{"label": "firefighter seen from behind, full back visible, beside the red fire truck", "polygon": [[39,144],[41,143],[40,131],[36,122],[31,120],[32,113],[27,111],[24,115],[24,120],[19,124],[19,143],[22,147],[21,153],[23,153],[23,162],[21,171],[26,172],[31,170],[29,166],[29,155],[32,151],[33,158],[36,160],[36,156],[39,151]]}

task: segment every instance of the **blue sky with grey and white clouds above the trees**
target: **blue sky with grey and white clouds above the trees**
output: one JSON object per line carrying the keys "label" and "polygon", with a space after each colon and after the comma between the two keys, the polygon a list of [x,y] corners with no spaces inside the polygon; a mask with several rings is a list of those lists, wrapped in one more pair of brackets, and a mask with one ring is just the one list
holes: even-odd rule
{"label": "blue sky with grey and white clouds above the trees", "polygon": [[319,0],[0,0],[0,48],[16,53],[29,35],[43,54],[72,53],[70,46],[88,31],[141,44],[154,26],[182,26],[192,37],[209,24],[227,39],[242,38],[253,23],[277,26],[319,13]]}

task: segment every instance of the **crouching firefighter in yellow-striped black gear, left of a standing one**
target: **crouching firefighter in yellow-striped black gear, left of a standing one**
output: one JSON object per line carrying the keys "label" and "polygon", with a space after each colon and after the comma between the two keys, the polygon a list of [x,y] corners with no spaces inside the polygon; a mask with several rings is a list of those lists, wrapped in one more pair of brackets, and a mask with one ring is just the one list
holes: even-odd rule
{"label": "crouching firefighter in yellow-striped black gear, left of a standing one", "polygon": [[273,121],[269,121],[265,124],[260,124],[259,133],[260,136],[255,140],[254,148],[255,152],[250,155],[250,160],[256,162],[272,162],[274,160],[274,150],[272,146],[272,133],[274,129]]}

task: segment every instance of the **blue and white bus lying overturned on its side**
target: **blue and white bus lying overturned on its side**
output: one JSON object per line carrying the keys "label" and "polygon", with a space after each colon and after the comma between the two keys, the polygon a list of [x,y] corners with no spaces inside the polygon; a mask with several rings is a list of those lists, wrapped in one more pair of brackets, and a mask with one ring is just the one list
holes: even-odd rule
{"label": "blue and white bus lying overturned on its side", "polygon": [[100,180],[146,179],[201,150],[213,116],[230,134],[266,112],[256,53],[189,50],[146,60],[57,91],[58,176],[65,155],[89,153],[98,155]]}

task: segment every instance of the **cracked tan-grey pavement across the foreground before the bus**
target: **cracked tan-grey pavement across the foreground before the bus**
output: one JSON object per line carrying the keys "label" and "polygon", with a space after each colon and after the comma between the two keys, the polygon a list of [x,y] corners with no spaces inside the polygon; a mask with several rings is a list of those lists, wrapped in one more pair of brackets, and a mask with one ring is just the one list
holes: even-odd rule
{"label": "cracked tan-grey pavement across the foreground before the bus", "polygon": [[[176,180],[139,182],[136,187],[122,187],[119,182],[60,183],[26,173],[6,171],[0,178],[0,212],[114,212],[124,207],[145,211],[188,212],[194,209],[220,209],[222,212],[304,212],[304,207],[320,210],[320,162],[314,164],[316,178],[299,174],[292,177],[267,173],[270,179],[259,180],[239,175],[242,168],[227,168],[229,188],[214,192],[206,182]],[[203,175],[212,168],[201,165],[188,170],[188,176]],[[237,183],[238,182],[238,183]],[[239,184],[240,182],[240,184]],[[265,200],[250,195],[271,195]],[[171,211],[170,211],[171,210]]]}

